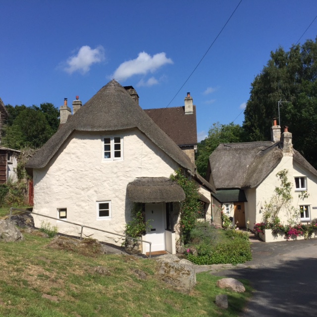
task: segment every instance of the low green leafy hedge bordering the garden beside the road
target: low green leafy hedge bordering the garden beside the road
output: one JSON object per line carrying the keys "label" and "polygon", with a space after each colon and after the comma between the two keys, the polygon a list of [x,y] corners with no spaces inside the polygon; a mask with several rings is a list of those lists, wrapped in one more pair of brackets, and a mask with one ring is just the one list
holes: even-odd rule
{"label": "low green leafy hedge bordering the garden beside the road", "polygon": [[249,241],[235,237],[211,248],[209,254],[187,254],[186,259],[199,265],[238,264],[252,260]]}

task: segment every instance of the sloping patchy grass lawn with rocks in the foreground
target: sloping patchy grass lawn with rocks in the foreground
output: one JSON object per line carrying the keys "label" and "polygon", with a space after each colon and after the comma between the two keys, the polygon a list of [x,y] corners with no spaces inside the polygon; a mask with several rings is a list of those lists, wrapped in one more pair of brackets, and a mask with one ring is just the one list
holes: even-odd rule
{"label": "sloping patchy grass lawn with rocks in the foreground", "polygon": [[[197,274],[191,294],[181,294],[162,282],[154,260],[132,256],[79,254],[47,248],[50,239],[24,234],[25,240],[0,243],[0,316],[2,317],[186,317],[238,316],[246,293],[218,289],[221,278]],[[107,275],[95,272],[104,266]],[[138,270],[147,278],[138,277]],[[214,304],[228,294],[229,309]]]}

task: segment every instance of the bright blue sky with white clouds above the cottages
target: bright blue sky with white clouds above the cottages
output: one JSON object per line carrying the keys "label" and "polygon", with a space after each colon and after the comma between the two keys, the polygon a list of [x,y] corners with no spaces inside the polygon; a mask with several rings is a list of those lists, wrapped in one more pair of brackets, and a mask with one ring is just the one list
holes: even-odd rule
{"label": "bright blue sky with white clouds above the cottages", "polygon": [[[114,78],[134,86],[143,108],[165,107],[239,1],[1,0],[0,98],[59,107],[78,95],[85,103]],[[288,50],[316,15],[316,0],[242,0],[169,106],[191,93],[199,140],[213,122],[242,124],[270,52]],[[316,36],[317,19],[300,43]]]}

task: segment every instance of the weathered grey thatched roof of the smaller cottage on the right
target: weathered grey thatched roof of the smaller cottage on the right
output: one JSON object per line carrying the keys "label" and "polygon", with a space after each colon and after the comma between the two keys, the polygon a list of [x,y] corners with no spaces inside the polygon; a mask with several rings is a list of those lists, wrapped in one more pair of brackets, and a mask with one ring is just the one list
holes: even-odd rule
{"label": "weathered grey thatched roof of the smaller cottage on the right", "polygon": [[[223,143],[209,158],[210,181],[213,181],[217,190],[254,188],[278,165],[282,157],[279,143]],[[293,159],[317,176],[317,170],[296,150]]]}

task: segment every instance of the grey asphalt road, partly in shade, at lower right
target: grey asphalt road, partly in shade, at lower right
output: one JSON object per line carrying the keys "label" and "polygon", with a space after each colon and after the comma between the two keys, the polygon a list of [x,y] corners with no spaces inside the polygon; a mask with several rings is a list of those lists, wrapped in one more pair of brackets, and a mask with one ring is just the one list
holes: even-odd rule
{"label": "grey asphalt road, partly in shade, at lower right", "polygon": [[252,243],[246,267],[211,272],[248,279],[255,289],[241,317],[317,316],[317,239]]}

